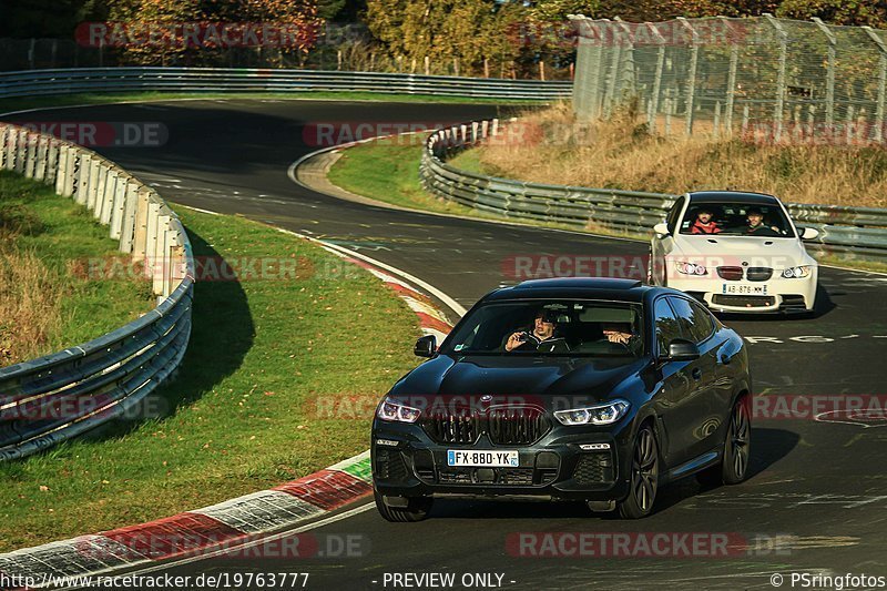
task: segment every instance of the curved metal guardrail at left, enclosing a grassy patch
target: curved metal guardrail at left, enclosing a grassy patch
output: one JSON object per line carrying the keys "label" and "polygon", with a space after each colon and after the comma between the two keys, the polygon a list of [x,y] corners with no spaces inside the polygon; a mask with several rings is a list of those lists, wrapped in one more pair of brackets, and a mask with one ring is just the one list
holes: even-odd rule
{"label": "curved metal guardrail at left, enclosing a grassy patch", "polygon": [[0,368],[0,461],[124,416],[179,366],[191,335],[194,257],[157,193],[99,154],[0,123],[0,169],[54,187],[92,211],[144,265],[159,305],[77,347]]}

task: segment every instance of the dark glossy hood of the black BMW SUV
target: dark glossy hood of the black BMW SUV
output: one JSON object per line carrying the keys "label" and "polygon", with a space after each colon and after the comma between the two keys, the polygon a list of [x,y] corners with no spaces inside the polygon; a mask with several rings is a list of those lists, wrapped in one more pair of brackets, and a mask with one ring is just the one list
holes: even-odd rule
{"label": "dark glossy hood of the black BMW SUV", "polygon": [[649,365],[632,357],[575,358],[527,355],[448,356],[430,359],[398,381],[390,396],[583,396],[605,400]]}

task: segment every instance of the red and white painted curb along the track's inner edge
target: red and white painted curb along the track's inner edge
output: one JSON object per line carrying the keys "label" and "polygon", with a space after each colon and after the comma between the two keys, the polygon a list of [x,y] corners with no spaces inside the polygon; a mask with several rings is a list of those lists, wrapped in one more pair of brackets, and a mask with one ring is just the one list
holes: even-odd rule
{"label": "red and white painted curb along the track's inner edge", "polygon": [[[399,269],[317,238],[283,230],[281,232],[310,240],[330,253],[369,271],[416,313],[424,334],[435,335],[440,342],[452,328],[447,316],[429,297],[398,276],[407,275]],[[421,279],[411,279],[442,298],[456,314],[465,313],[465,308],[446,294],[437,292]],[[50,581],[63,578],[112,573],[124,568],[224,552],[228,549],[235,551],[244,543],[292,529],[303,521],[335,511],[371,493],[367,450],[271,490],[253,492],[149,523],[0,554],[0,589],[21,588],[3,587],[2,581],[22,581],[28,578],[27,580],[38,581],[35,587],[42,587],[40,581],[49,584]]]}

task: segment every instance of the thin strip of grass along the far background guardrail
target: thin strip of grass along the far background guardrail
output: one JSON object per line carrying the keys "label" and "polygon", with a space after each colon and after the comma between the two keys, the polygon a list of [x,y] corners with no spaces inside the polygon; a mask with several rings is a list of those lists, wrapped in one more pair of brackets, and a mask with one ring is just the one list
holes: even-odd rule
{"label": "thin strip of grass along the far background guardrail", "polygon": [[383,94],[378,92],[93,92],[64,94],[60,96],[24,96],[0,100],[0,113],[28,109],[45,109],[80,104],[108,104],[119,102],[170,101],[174,99],[276,99],[289,101],[376,101],[420,103],[472,103],[472,104],[540,104],[544,101],[523,99],[480,99],[471,96],[441,96],[439,94]]}

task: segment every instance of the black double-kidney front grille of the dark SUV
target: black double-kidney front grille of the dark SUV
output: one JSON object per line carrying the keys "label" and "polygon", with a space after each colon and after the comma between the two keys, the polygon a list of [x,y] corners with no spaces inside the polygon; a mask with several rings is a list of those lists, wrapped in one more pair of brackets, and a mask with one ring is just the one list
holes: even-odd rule
{"label": "black double-kidney front grille of the dark SUV", "polygon": [[551,427],[537,407],[495,407],[466,411],[431,411],[420,419],[425,432],[439,444],[473,444],[487,434],[495,445],[529,446]]}

